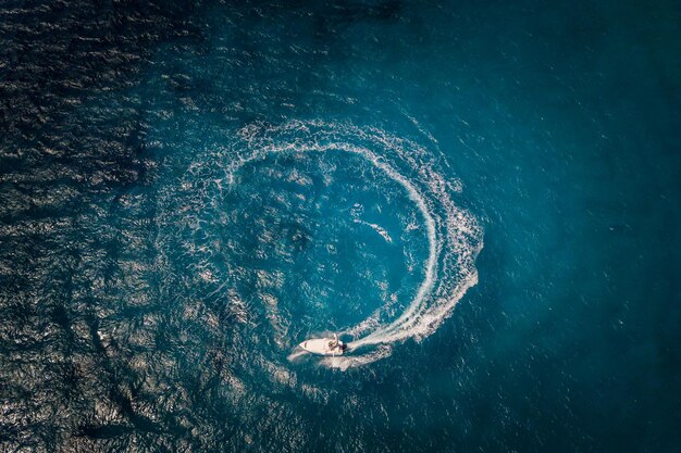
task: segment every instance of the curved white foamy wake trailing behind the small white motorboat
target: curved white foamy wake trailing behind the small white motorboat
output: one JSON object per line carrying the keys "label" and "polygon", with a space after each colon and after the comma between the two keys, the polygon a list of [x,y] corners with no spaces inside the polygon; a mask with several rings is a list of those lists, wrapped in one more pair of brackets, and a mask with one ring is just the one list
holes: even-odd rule
{"label": "curved white foamy wake trailing behind the small white motorboat", "polygon": [[392,322],[380,322],[379,309],[374,315],[342,331],[354,338],[348,342],[351,353],[326,357],[323,364],[343,369],[359,366],[389,355],[393,343],[428,337],[478,282],[474,261],[482,249],[482,229],[468,211],[451,200],[450,192],[460,191],[460,184],[439,176],[424,148],[377,129],[321,122],[292,122],[264,129],[248,127],[240,136],[247,143],[246,152],[227,167],[230,184],[246,163],[263,160],[271,153],[342,151],[360,155],[396,181],[421,214],[429,254],[416,295]]}

